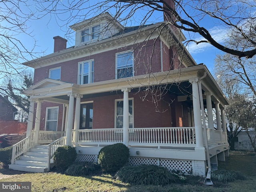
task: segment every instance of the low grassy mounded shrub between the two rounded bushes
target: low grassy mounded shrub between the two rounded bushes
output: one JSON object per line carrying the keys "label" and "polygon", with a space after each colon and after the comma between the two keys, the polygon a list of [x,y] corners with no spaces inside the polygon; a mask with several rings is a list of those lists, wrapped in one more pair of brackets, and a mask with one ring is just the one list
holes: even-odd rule
{"label": "low grassy mounded shrub between the two rounded bushes", "polygon": [[65,174],[71,176],[84,176],[92,174],[98,170],[100,170],[100,166],[96,162],[78,162],[70,165],[65,171]]}

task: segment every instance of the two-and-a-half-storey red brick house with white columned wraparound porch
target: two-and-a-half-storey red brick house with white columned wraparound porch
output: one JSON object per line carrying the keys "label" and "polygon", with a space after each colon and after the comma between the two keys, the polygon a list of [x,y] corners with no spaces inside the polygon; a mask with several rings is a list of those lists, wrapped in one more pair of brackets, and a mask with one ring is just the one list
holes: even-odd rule
{"label": "two-and-a-half-storey red brick house with white columned wraparound porch", "polygon": [[[182,45],[180,30],[166,21],[125,27],[108,13],[70,28],[74,46],[66,48],[67,40],[56,36],[54,53],[24,63],[35,69],[34,85],[24,91],[31,99],[27,148],[13,154],[9,168],[48,171],[52,153],[63,144],[76,147],[78,160],[96,161],[103,146],[121,142],[130,149],[131,165],[200,176],[206,175],[206,142],[211,163],[225,160],[228,100]],[[35,170],[15,160],[31,148],[45,148],[45,166]]]}

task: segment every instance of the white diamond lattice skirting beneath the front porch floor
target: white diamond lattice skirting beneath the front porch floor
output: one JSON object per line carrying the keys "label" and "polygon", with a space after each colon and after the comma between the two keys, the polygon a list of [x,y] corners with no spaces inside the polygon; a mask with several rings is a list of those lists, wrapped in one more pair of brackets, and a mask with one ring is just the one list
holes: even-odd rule
{"label": "white diamond lattice skirting beneath the front porch floor", "polygon": [[[86,155],[86,154],[78,154],[76,161],[88,161],[88,162],[97,162],[97,155]],[[176,170],[180,171],[185,175],[192,175],[193,172],[193,160],[174,160],[174,159],[163,159],[163,158],[147,158],[147,157],[130,157],[129,158],[130,165],[158,165],[162,167],[168,168],[168,170]]]}

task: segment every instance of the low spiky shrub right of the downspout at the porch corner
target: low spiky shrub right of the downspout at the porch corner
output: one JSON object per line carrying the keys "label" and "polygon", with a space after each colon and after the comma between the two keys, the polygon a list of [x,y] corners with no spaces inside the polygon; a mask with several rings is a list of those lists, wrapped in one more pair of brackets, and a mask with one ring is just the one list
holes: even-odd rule
{"label": "low spiky shrub right of the downspout at the porch corner", "polygon": [[211,179],[227,183],[234,180],[245,180],[246,177],[242,173],[234,170],[216,170],[212,171]]}

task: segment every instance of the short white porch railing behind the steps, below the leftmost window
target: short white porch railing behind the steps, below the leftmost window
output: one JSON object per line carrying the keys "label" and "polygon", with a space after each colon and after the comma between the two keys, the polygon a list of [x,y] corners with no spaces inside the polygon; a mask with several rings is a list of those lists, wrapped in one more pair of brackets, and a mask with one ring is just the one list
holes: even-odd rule
{"label": "short white porch railing behind the steps, below the leftmost window", "polygon": [[[34,142],[35,131],[32,131],[32,142]],[[38,144],[49,144],[65,135],[65,131],[39,131]]]}

